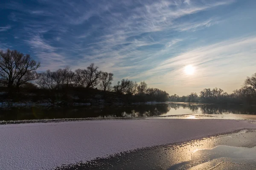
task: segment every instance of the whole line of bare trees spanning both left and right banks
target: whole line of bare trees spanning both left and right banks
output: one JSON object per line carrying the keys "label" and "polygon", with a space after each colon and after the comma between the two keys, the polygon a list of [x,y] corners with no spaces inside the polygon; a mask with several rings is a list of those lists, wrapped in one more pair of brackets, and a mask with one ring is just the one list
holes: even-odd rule
{"label": "whole line of bare trees spanning both left and right banks", "polygon": [[[9,92],[13,88],[43,88],[55,95],[61,90],[68,97],[70,87],[86,89],[99,88],[101,91],[112,91],[119,95],[125,95],[125,100],[136,101],[174,101],[174,102],[204,102],[204,103],[243,103],[256,104],[256,73],[247,77],[244,85],[232,94],[227,94],[221,88],[205,88],[200,94],[191,93],[187,96],[177,94],[169,96],[166,91],[158,88],[149,88],[145,81],[134,82],[122,79],[112,86],[113,74],[103,72],[91,63],[85,69],[72,71],[70,66],[59,68],[56,71],[47,70],[37,73],[40,62],[36,62],[29,54],[22,54],[16,50],[0,51],[0,87],[8,87]],[[76,88],[76,89],[81,89]],[[87,91],[89,92],[89,91]],[[8,95],[10,96],[10,95]],[[56,95],[58,96],[58,95]]]}

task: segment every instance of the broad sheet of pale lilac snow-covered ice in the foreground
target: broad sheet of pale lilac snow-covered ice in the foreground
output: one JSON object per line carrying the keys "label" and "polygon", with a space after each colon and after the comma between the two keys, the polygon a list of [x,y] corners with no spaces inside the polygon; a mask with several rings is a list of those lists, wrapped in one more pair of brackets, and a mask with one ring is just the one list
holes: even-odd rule
{"label": "broad sheet of pale lilac snow-covered ice in the foreground", "polygon": [[245,120],[143,119],[0,125],[1,170],[52,169],[141,147],[243,128]]}

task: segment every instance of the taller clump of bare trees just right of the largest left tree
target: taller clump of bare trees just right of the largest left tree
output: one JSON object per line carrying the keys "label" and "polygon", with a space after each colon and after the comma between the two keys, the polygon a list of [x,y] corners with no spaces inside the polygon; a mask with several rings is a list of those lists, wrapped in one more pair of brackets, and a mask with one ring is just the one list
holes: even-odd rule
{"label": "taller clump of bare trees just right of the largest left tree", "polygon": [[112,81],[112,73],[98,71],[98,67],[92,63],[86,69],[77,69],[75,72],[70,66],[56,71],[41,72],[37,76],[36,84],[40,88],[50,90],[60,90],[70,86],[95,88],[99,85],[102,91],[110,91]]}

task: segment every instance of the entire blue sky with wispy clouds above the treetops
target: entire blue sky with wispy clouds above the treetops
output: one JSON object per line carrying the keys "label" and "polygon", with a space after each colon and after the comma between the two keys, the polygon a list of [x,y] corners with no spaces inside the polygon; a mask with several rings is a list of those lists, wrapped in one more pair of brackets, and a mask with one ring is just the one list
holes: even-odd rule
{"label": "entire blue sky with wispy clouds above the treetops", "polygon": [[39,71],[94,62],[113,84],[231,93],[256,72],[255,9],[255,0],[1,0],[0,49],[30,54]]}

